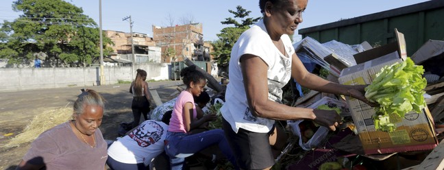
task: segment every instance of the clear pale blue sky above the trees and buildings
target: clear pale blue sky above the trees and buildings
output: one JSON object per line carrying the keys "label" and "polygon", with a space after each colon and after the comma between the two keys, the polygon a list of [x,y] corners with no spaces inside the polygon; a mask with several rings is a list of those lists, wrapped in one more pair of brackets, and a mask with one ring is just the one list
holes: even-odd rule
{"label": "clear pale blue sky above the trees and buildings", "polygon": [[[18,17],[12,11],[12,2],[15,0],[1,0],[0,22],[13,21]],[[93,18],[99,24],[99,0],[66,0],[84,10],[84,14]],[[425,0],[310,0],[306,12],[303,13],[304,22],[298,29],[332,23],[341,19],[350,19],[375,12],[401,8],[406,5],[425,2]],[[130,32],[130,23],[122,21],[126,16],[132,16],[134,21],[133,32],[152,36],[151,25],[167,27],[170,19],[173,23],[182,24],[182,19],[193,19],[202,23],[204,40],[217,40],[223,27],[221,21],[233,17],[228,10],[236,11],[240,5],[251,11],[250,17],[261,16],[258,1],[254,0],[103,0],[102,29]],[[171,16],[171,17],[170,17]],[[295,37],[297,40],[297,37]]]}

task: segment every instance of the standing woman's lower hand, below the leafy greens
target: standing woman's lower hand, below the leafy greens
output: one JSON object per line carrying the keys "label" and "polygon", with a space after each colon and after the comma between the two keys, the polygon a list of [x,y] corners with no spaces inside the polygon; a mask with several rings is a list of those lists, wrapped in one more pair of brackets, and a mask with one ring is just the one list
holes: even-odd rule
{"label": "standing woman's lower hand, below the leafy greens", "polygon": [[336,130],[336,126],[342,123],[341,116],[334,110],[313,110],[314,122],[319,125],[329,127],[330,130]]}

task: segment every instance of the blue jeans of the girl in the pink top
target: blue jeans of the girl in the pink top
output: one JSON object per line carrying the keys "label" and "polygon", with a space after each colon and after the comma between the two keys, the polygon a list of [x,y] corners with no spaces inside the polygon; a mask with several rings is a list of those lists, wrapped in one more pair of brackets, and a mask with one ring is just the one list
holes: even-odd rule
{"label": "blue jeans of the girl in the pink top", "polygon": [[208,130],[199,134],[186,134],[182,132],[168,132],[165,152],[170,157],[171,169],[182,169],[185,158],[210,147],[219,145],[222,153],[236,166],[236,160],[227,143],[223,130]]}

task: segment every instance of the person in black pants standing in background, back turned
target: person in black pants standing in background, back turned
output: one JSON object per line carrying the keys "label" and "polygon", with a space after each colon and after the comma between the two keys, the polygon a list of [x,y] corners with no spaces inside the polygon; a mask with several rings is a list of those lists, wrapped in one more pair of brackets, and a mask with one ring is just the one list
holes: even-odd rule
{"label": "person in black pants standing in background, back turned", "polygon": [[143,69],[137,69],[136,80],[131,83],[130,93],[133,94],[132,100],[132,112],[134,121],[132,127],[136,127],[140,122],[140,114],[143,114],[145,121],[148,120],[149,113],[149,101],[151,97],[148,91],[147,71]]}

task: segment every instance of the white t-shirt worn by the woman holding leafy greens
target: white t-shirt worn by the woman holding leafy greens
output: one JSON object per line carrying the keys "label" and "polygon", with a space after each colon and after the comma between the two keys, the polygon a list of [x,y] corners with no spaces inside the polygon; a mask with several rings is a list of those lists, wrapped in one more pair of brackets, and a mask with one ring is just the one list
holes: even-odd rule
{"label": "white t-shirt worn by the woman holding leafy greens", "polygon": [[264,21],[240,35],[232,49],[230,58],[230,83],[225,93],[225,104],[221,108],[223,118],[232,126],[234,132],[239,128],[251,132],[266,133],[271,130],[274,120],[255,117],[251,114],[247,103],[247,95],[243,84],[243,75],[240,69],[240,56],[252,54],[261,58],[268,66],[267,82],[269,99],[282,103],[282,87],[291,78],[291,55],[295,49],[288,35],[281,36],[286,54],[282,54],[273,44]]}

